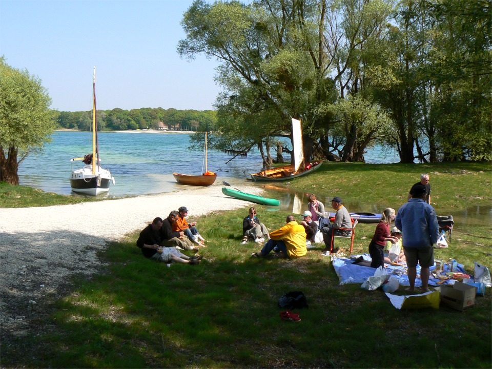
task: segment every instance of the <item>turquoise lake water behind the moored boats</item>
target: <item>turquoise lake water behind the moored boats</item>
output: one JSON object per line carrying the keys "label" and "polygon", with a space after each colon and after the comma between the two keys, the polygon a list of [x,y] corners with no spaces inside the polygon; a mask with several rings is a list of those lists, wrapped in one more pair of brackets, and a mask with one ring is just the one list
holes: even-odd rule
{"label": "turquoise lake water behind the moored boats", "polygon": [[[88,132],[55,132],[42,153],[28,156],[19,166],[20,185],[63,195],[72,194],[69,176],[70,158],[90,153],[92,135]],[[102,167],[109,169],[116,185],[109,197],[138,196],[182,189],[172,173],[201,174],[203,152],[190,150],[190,134],[173,133],[99,133]],[[240,183],[249,173],[261,169],[261,155],[256,150],[247,157],[209,150],[208,169],[217,173],[216,183],[226,180]],[[398,162],[398,155],[380,147],[368,150],[368,163]],[[80,161],[73,163],[79,168]],[[78,196],[78,195],[75,195]]]}

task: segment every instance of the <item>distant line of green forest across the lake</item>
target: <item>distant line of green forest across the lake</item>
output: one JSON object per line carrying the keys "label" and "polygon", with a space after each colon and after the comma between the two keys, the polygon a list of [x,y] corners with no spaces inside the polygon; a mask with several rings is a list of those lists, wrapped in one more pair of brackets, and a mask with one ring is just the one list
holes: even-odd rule
{"label": "distant line of green forest across the lake", "polygon": [[[57,112],[58,128],[90,131],[92,112]],[[213,110],[176,110],[141,108],[132,110],[97,110],[99,131],[124,131],[136,129],[168,129],[177,131],[210,131],[217,120]]]}

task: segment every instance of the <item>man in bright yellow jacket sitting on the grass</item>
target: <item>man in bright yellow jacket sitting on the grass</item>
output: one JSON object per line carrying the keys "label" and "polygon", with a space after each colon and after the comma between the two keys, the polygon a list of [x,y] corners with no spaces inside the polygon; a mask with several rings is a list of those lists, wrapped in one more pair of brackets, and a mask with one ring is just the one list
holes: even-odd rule
{"label": "man in bright yellow jacket sitting on the grass", "polygon": [[289,258],[298,258],[308,253],[306,248],[306,231],[298,224],[293,215],[289,215],[282,228],[270,232],[270,240],[265,243],[263,249],[253,253],[252,257],[263,257],[268,255],[275,247],[283,255]]}

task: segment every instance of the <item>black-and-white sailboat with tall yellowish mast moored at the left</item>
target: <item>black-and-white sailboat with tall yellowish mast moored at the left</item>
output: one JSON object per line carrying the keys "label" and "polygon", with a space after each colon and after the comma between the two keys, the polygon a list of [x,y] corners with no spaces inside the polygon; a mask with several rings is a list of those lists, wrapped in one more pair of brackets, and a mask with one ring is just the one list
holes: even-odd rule
{"label": "black-and-white sailboat with tall yellowish mast moored at the left", "polygon": [[96,196],[109,191],[109,184],[115,183],[114,177],[107,169],[100,166],[99,142],[97,140],[97,118],[96,118],[96,67],[94,67],[94,78],[92,83],[92,153],[84,157],[70,159],[73,162],[82,160],[84,166],[73,170],[70,176],[70,186],[73,192]]}

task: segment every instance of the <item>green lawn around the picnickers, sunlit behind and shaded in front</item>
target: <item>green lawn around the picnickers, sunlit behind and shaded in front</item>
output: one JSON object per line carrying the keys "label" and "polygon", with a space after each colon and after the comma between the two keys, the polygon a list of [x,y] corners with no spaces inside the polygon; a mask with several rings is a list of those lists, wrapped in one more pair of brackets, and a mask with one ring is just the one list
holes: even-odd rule
{"label": "green lawn around the picnickers, sunlit behind and shaded in front", "polygon": [[[491,203],[489,165],[366,168],[330,163],[286,186],[342,198],[363,196],[398,208],[425,171],[441,213]],[[256,208],[270,229],[282,226],[288,215]],[[138,232],[110,244],[100,254],[107,262],[104,270],[74,281],[74,288],[51,306],[46,330],[18,344],[2,343],[2,366],[491,366],[490,289],[463,313],[445,307],[400,311],[380,291],[340,286],[333,267],[320,256],[321,247],[296,260],[251,259],[256,245],[240,245],[246,209],[200,218],[210,246],[196,267],[166,268],[142,257],[135,246]],[[367,252],[375,224],[357,227],[356,254]],[[490,224],[457,228],[450,247],[436,251],[436,258],[454,257],[472,274],[474,261],[490,267],[490,231]],[[345,247],[347,240],[338,242]],[[309,309],[297,311],[299,323],[279,318],[277,300],[288,291],[308,297]]]}

